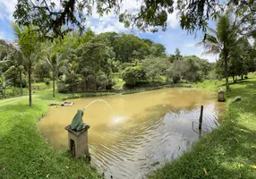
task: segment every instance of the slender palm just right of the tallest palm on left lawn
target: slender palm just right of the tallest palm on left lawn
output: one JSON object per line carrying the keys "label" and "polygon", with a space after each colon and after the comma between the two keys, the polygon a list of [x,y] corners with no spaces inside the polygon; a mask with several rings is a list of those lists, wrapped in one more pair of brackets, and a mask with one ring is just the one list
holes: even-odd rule
{"label": "slender palm just right of the tallest palm on left lawn", "polygon": [[50,66],[53,72],[53,97],[55,98],[55,80],[57,82],[57,90],[58,90],[58,74],[59,70],[64,67],[64,64],[67,63],[66,60],[62,60],[62,55],[52,54],[51,52],[46,55],[47,64]]}

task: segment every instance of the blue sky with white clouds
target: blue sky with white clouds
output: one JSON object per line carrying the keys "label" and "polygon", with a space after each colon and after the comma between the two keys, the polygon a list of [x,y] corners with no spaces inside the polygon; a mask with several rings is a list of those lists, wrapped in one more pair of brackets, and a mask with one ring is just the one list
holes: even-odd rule
{"label": "blue sky with white clouds", "polygon": [[[51,1],[58,6],[59,0]],[[13,11],[16,3],[17,0],[0,0],[0,38],[15,39],[11,21],[14,21]],[[125,9],[136,12],[140,5],[140,0],[124,0],[121,12]],[[107,31],[132,33],[140,38],[150,38],[157,43],[165,45],[167,54],[174,54],[175,49],[179,48],[182,55],[198,55],[201,58],[208,59],[209,62],[216,62],[218,55],[203,55],[203,48],[195,46],[197,42],[201,41],[203,33],[198,31],[196,36],[187,34],[186,30],[180,28],[176,14],[176,11],[168,14],[166,31],[158,30],[158,32],[152,33],[126,29],[124,24],[118,21],[118,16],[115,13],[108,13],[103,17],[99,17],[96,9],[93,9],[92,15],[88,18],[87,27],[90,27],[97,34]],[[215,26],[213,22],[210,22],[210,25],[211,27]]]}

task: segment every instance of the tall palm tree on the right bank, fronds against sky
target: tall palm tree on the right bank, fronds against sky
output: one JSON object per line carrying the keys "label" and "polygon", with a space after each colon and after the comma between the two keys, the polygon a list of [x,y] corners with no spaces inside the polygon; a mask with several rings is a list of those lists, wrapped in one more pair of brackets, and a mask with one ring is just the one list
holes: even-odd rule
{"label": "tall palm tree on the right bank, fronds against sky", "polygon": [[208,29],[203,40],[198,45],[204,47],[204,54],[219,54],[224,61],[224,71],[226,78],[226,90],[229,90],[228,84],[228,60],[233,47],[240,42],[238,38],[238,24],[231,21],[228,13],[218,19],[217,29]]}

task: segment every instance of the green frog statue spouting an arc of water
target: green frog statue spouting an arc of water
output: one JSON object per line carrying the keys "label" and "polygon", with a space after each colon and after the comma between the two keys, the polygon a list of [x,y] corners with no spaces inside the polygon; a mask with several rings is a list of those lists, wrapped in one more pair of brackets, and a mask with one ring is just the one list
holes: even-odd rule
{"label": "green frog statue spouting an arc of water", "polygon": [[70,125],[71,130],[79,132],[84,128],[90,128],[89,124],[85,124],[82,122],[82,115],[83,115],[83,110],[78,109],[76,115],[73,117],[73,121]]}

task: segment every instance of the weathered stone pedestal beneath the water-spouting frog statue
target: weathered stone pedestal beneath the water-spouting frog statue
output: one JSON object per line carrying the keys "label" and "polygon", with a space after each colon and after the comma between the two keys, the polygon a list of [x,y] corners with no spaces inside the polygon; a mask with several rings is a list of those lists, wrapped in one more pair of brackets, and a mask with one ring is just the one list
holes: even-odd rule
{"label": "weathered stone pedestal beneath the water-spouting frog statue", "polygon": [[88,149],[88,129],[90,126],[82,129],[79,132],[71,130],[70,125],[64,129],[68,131],[68,149],[74,151],[75,157],[80,158],[83,154],[89,156]]}

